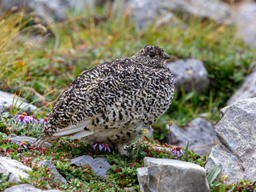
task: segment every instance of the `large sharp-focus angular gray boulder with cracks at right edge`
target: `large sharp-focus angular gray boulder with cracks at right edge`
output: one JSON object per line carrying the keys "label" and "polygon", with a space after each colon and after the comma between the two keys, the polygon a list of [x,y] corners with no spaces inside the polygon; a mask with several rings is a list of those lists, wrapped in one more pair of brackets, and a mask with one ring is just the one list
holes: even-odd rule
{"label": "large sharp-focus angular gray boulder with cracks at right edge", "polygon": [[227,183],[254,180],[256,175],[256,98],[226,106],[214,127],[219,142],[213,146],[205,165],[207,170],[221,165]]}

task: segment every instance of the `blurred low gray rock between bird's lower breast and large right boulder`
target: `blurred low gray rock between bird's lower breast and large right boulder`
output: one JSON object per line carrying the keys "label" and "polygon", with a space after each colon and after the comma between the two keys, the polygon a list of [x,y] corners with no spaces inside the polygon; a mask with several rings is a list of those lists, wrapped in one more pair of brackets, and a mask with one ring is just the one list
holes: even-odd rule
{"label": "blurred low gray rock between bird's lower breast and large right boulder", "polygon": [[[166,129],[169,130],[168,125]],[[185,147],[189,142],[189,149],[196,154],[209,154],[213,146],[213,138],[217,141],[213,125],[204,118],[193,119],[184,129],[175,125],[171,126],[171,144]]]}

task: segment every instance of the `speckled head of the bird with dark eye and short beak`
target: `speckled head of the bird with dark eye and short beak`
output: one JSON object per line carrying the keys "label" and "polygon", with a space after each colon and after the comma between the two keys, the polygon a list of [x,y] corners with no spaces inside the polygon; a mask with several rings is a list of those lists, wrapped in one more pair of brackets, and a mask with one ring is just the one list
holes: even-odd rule
{"label": "speckled head of the bird with dark eye and short beak", "polygon": [[159,46],[145,46],[131,57],[133,62],[139,62],[153,68],[163,67],[165,61],[169,58],[171,58],[171,56],[166,54]]}

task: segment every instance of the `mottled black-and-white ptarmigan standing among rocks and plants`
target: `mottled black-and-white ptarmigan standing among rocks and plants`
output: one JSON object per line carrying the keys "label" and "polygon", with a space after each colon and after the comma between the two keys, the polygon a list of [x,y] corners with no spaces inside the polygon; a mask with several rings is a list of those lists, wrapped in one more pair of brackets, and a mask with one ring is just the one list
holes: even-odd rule
{"label": "mottled black-and-white ptarmigan standing among rocks and plants", "polygon": [[124,145],[142,135],[169,108],[174,94],[171,58],[158,46],[145,46],[131,58],[83,71],[59,96],[36,145],[71,135],[84,142]]}

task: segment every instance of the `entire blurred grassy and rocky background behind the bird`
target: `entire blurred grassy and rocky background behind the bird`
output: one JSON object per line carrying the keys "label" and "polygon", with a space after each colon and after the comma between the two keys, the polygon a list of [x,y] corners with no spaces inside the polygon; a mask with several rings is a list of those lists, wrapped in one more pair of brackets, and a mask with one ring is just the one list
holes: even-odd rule
{"label": "entire blurred grassy and rocky background behind the bird", "polygon": [[167,121],[214,125],[222,107],[256,96],[256,1],[1,0],[0,7],[2,111],[13,97],[6,92],[17,91],[43,118],[83,70],[146,45],[173,57],[175,98],[152,127],[160,141],[168,140]]}

